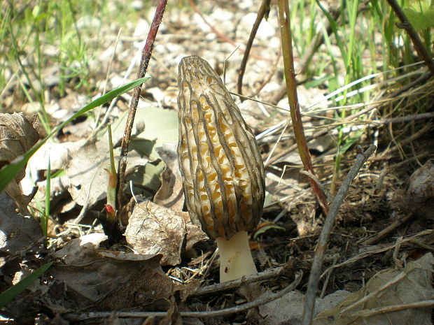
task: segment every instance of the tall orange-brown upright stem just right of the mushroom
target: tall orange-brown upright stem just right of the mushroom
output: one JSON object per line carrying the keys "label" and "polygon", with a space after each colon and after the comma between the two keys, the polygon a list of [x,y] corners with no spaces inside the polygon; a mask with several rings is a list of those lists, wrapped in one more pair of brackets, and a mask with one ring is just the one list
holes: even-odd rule
{"label": "tall orange-brown upright stem just right of the mushroom", "polygon": [[[302,159],[304,169],[315,175],[314,168],[312,167],[311,163],[309,148],[307,147],[306,137],[304,136],[302,116],[300,114],[300,106],[297,99],[297,83],[295,82],[292,36],[290,33],[289,17],[290,13],[288,1],[279,0],[279,25],[281,30],[283,66],[285,68],[286,92],[288,94],[290,117],[293,121],[295,141],[297,143],[298,153]],[[314,194],[319,205],[321,206],[321,209],[323,210],[324,214],[327,215],[328,203],[326,201],[325,194],[311,178],[309,178],[309,183],[314,190]]]}

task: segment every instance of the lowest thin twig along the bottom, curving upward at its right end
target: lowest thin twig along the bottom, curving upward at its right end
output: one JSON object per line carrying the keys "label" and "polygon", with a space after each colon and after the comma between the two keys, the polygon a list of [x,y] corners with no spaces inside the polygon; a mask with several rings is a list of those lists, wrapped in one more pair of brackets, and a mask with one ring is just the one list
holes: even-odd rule
{"label": "lowest thin twig along the bottom, curving upward at its right end", "polygon": [[[264,305],[270,301],[274,301],[282,296],[293,291],[300,283],[302,279],[302,273],[297,273],[294,281],[288,285],[285,289],[276,292],[275,294],[264,294],[260,298],[255,299],[251,303],[244,303],[243,305],[238,305],[232,308],[226,308],[223,310],[213,310],[210,312],[180,312],[181,317],[221,317],[235,314],[236,312],[245,312],[251,308]],[[165,317],[167,312],[83,312],[83,313],[66,313],[62,315],[64,319],[80,321],[85,319],[95,319],[95,318],[107,318],[107,317],[119,317],[119,318],[146,318],[146,317]]]}

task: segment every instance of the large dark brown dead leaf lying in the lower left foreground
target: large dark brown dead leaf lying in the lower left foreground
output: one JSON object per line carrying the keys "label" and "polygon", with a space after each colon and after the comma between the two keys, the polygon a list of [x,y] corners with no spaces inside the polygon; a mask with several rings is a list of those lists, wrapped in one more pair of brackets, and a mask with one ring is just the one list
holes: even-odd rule
{"label": "large dark brown dead leaf lying in the lower left foreground", "polygon": [[160,255],[102,250],[107,237],[92,233],[71,240],[55,253],[50,275],[66,286],[66,299],[80,308],[125,310],[137,305],[167,307],[175,285],[162,271]]}

